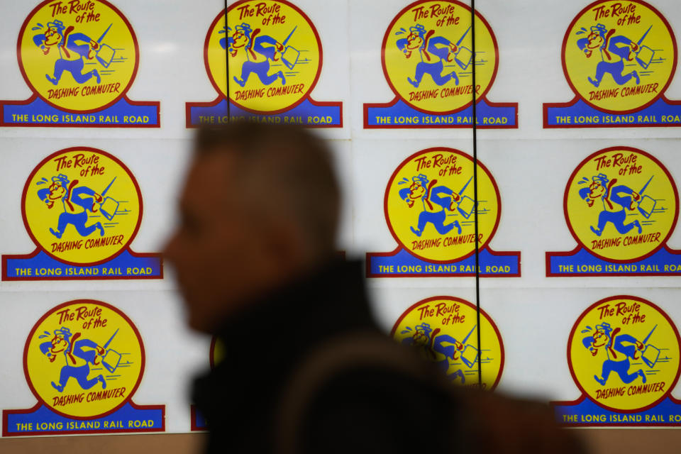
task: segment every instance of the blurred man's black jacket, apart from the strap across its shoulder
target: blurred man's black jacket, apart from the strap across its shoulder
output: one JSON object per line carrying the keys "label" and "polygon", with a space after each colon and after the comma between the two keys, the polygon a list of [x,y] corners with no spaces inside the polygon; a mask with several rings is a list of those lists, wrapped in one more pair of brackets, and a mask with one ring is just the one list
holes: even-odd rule
{"label": "blurred man's black jacket, apart from the strap across its shoulder", "polygon": [[[209,423],[209,453],[272,453],[277,407],[311,349],[378,330],[359,263],[335,262],[225,323],[226,358],[194,384]],[[450,436],[447,397],[414,377],[352,367],[316,392],[300,421],[304,453],[410,453]],[[449,428],[447,427],[449,426]]]}

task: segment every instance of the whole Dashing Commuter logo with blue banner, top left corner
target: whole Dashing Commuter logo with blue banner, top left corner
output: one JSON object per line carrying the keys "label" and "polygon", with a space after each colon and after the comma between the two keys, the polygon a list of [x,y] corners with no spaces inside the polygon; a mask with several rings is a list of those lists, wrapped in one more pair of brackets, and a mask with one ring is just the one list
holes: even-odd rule
{"label": "whole Dashing Commuter logo with blue banner, top left corner", "polygon": [[21,26],[16,52],[33,96],[0,101],[0,126],[160,126],[158,102],[126,95],[140,50],[109,2],[43,1]]}

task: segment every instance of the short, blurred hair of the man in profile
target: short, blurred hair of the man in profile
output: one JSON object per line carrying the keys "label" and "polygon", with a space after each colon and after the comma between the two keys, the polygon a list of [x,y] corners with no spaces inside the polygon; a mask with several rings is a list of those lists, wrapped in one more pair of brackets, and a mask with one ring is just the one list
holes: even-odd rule
{"label": "short, blurred hair of the man in profile", "polygon": [[255,204],[265,222],[282,216],[294,221],[309,253],[335,250],[340,189],[326,142],[300,126],[236,121],[200,128],[198,157],[224,153],[233,157],[242,197]]}

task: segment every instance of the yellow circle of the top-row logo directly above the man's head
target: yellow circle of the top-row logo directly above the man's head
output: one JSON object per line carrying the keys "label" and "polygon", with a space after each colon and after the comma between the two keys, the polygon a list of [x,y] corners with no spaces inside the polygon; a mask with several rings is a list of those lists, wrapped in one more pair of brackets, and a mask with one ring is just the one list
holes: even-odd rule
{"label": "yellow circle of the top-row logo directly above the man's head", "polygon": [[305,13],[283,0],[243,0],[228,8],[227,23],[220,13],[204,47],[218,92],[262,114],[276,114],[303,101],[319,78],[322,61],[319,35]]}

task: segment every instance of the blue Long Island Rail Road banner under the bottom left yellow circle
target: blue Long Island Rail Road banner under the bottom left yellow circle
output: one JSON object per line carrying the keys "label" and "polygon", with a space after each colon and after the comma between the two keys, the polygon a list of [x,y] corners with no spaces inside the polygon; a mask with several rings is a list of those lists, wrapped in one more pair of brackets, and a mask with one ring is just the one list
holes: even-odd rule
{"label": "blue Long Island Rail Road banner under the bottom left yellow circle", "polygon": [[163,406],[135,407],[126,402],[101,418],[72,419],[44,405],[34,411],[4,410],[3,436],[57,435],[61,433],[106,433],[165,431]]}

